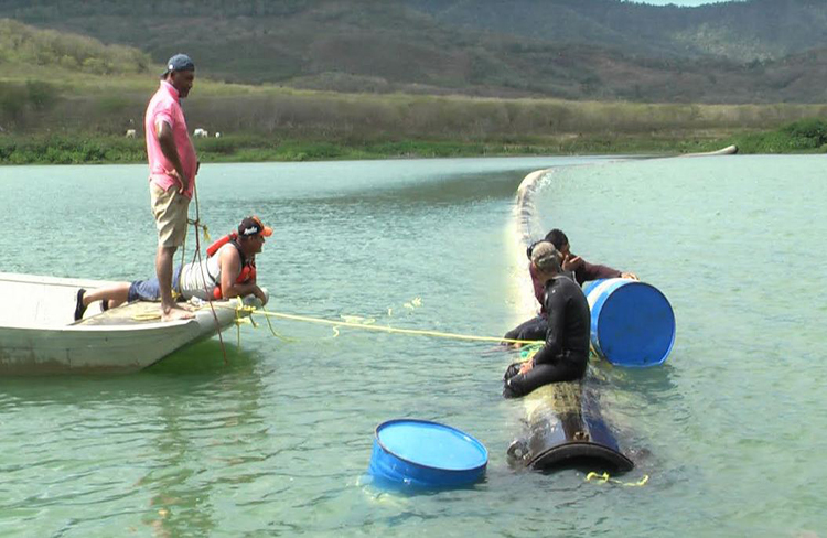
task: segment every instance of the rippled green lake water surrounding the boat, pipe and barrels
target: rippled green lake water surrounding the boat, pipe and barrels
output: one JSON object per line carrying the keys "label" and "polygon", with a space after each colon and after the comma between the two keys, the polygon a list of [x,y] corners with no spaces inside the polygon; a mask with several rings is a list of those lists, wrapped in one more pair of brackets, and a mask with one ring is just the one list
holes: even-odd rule
{"label": "rippled green lake water surrounding the boat, pipe and barrels", "polygon": [[[823,157],[215,164],[200,212],[213,236],[275,228],[269,310],[498,336],[526,316],[514,194],[546,168],[536,235],[676,314],[665,365],[597,366],[621,483],[508,467],[514,353],[259,320],[226,364],[213,338],[133,375],[1,378],[0,536],[827,536]],[[1,271],[152,275],[146,166],[7,166],[0,190]],[[376,489],[374,429],[405,417],[476,437],[485,481]]]}

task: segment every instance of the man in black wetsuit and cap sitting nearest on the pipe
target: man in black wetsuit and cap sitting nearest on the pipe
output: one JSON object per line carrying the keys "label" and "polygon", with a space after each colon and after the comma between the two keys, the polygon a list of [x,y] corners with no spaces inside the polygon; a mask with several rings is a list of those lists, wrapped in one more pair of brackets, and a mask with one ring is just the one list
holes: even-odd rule
{"label": "man in black wetsuit and cap sitting nearest on the pipe", "polygon": [[580,379],[589,361],[591,314],[580,287],[562,275],[562,256],[547,241],[531,251],[533,270],[544,286],[548,312],[546,343],[525,363],[514,363],[505,372],[503,396],[516,398],[555,381]]}

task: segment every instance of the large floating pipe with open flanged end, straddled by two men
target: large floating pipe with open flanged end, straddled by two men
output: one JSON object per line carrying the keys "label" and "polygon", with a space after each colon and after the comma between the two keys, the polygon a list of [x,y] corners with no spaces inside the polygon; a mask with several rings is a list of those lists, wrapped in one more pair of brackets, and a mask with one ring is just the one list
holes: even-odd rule
{"label": "large floating pipe with open flanged end, straddled by two men", "polygon": [[[517,189],[515,207],[517,256],[524,267],[525,250],[533,241],[536,207],[534,195],[551,171],[528,174]],[[527,273],[527,271],[524,271]],[[522,288],[527,293],[530,286]],[[531,295],[531,303],[534,295]],[[512,465],[547,471],[573,463],[630,471],[634,462],[620,450],[600,412],[592,368],[578,381],[552,383],[523,397],[526,428],[507,450]]]}

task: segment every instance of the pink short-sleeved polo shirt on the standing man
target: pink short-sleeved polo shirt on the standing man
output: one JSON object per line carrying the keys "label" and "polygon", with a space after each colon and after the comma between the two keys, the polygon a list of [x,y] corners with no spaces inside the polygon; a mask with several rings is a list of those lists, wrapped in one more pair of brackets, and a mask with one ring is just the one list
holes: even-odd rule
{"label": "pink short-sleeved polo shirt on the standing man", "polygon": [[150,99],[147,106],[147,115],[143,118],[143,130],[147,133],[147,157],[149,158],[149,180],[155,182],[164,191],[170,186],[176,185],[168,171],[174,169],[169,159],[161,151],[161,143],[155,134],[155,122],[163,120],[172,127],[172,136],[178,148],[178,157],[181,159],[181,166],[189,179],[189,186],[184,192],[187,198],[192,198],[193,185],[195,184],[195,169],[197,166],[197,157],[195,148],[190,140],[190,132],[186,129],[184,111],[181,108],[179,93],[175,87],[167,80],[161,80],[161,87]]}

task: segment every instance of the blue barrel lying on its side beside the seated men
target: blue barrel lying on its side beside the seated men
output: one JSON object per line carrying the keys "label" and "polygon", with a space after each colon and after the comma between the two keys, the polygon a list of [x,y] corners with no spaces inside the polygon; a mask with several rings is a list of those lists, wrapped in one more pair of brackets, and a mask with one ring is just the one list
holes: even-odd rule
{"label": "blue barrel lying on its side beside the seated men", "polygon": [[652,284],[624,278],[589,283],[591,345],[619,366],[662,364],[675,343],[675,313],[666,297]]}

